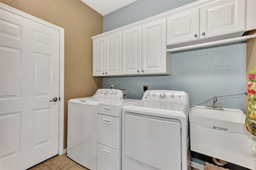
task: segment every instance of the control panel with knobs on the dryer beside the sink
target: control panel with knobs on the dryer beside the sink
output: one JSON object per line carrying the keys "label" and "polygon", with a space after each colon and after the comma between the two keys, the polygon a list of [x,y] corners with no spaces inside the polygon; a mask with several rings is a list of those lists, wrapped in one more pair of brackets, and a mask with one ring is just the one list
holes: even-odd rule
{"label": "control panel with knobs on the dryer beside the sink", "polygon": [[173,90],[147,90],[142,101],[160,101],[171,103],[189,103],[188,94],[184,91]]}

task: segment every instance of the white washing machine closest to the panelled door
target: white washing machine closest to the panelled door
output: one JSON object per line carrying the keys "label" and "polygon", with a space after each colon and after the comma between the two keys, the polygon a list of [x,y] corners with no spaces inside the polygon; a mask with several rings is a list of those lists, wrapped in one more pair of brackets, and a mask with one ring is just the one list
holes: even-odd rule
{"label": "white washing machine closest to the panelled door", "polygon": [[96,170],[98,103],[122,98],[123,93],[118,89],[98,89],[92,97],[68,101],[69,158],[90,170]]}

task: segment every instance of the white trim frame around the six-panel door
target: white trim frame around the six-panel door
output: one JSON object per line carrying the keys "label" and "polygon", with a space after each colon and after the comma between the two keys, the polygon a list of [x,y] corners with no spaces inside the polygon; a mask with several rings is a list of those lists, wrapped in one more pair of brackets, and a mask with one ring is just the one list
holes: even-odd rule
{"label": "white trim frame around the six-panel door", "polygon": [[58,153],[59,155],[62,155],[64,153],[64,28],[61,28],[59,26],[56,26],[54,24],[51,24],[49,22],[46,22],[44,20],[41,20],[39,18],[36,18],[30,14],[27,14],[25,12],[22,12],[20,10],[17,10],[15,8],[12,8],[6,4],[3,4],[0,2],[0,9],[6,10],[8,12],[12,12],[13,14],[22,16],[24,18],[28,18],[29,20],[32,20],[34,22],[38,22],[40,24],[43,24],[45,26],[48,26],[50,28],[54,28],[55,30],[59,31],[60,36],[60,48],[59,48],[59,54],[60,54],[60,70],[59,70],[59,145],[58,145]]}

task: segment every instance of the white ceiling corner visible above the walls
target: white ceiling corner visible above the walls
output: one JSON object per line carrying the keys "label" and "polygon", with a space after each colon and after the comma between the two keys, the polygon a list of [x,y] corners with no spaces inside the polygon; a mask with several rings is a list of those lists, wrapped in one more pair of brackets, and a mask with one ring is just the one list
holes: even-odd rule
{"label": "white ceiling corner visible above the walls", "polygon": [[136,0],[81,0],[102,16],[122,8]]}

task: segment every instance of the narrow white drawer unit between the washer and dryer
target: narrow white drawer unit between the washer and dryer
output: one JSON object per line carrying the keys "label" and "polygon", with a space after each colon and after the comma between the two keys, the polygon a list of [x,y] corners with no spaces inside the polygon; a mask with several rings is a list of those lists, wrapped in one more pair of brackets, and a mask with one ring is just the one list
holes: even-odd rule
{"label": "narrow white drawer unit between the washer and dryer", "polygon": [[121,109],[136,101],[119,99],[98,104],[98,170],[121,169]]}

